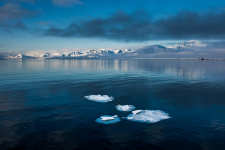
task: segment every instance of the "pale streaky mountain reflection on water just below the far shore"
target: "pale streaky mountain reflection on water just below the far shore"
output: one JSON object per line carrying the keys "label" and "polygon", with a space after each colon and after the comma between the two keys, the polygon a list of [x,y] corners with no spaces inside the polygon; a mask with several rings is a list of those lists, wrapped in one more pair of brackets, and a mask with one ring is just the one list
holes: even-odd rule
{"label": "pale streaky mountain reflection on water just below the far shore", "polygon": [[[128,72],[130,74],[160,75],[180,77],[189,80],[210,78],[223,79],[223,61],[198,61],[198,60],[27,60],[27,61],[1,61],[1,76],[10,77],[15,74],[19,77],[24,72],[57,72],[60,75],[69,73],[81,74],[99,71],[110,73]],[[62,71],[60,73],[60,71]],[[66,72],[64,72],[66,71]],[[109,73],[110,72],[110,73]],[[135,72],[135,73],[134,73]],[[206,76],[207,74],[207,76]],[[48,74],[47,74],[48,75]],[[52,75],[52,74],[51,74]],[[33,75],[32,75],[33,76]],[[44,75],[46,76],[46,74]]]}

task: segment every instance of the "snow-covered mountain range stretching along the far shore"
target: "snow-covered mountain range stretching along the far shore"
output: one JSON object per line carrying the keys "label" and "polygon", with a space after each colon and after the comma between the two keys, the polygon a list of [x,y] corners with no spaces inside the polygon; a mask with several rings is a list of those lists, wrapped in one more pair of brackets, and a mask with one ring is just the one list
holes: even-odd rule
{"label": "snow-covered mountain range stretching along the far shore", "polygon": [[161,46],[161,45],[150,45],[139,48],[137,50],[131,49],[119,49],[119,50],[106,50],[106,49],[98,49],[98,50],[87,50],[84,52],[74,51],[74,52],[47,52],[47,53],[19,53],[19,54],[8,54],[2,58],[4,59],[30,59],[30,58],[40,58],[40,59],[51,59],[51,58],[59,58],[59,59],[73,59],[73,58],[99,58],[99,57],[138,57],[138,56],[146,56],[149,54],[167,54],[167,53],[176,53],[176,52],[187,52],[187,51],[195,51],[197,48],[207,46],[205,43],[202,43],[197,40],[190,40],[187,42],[179,43],[172,46]]}

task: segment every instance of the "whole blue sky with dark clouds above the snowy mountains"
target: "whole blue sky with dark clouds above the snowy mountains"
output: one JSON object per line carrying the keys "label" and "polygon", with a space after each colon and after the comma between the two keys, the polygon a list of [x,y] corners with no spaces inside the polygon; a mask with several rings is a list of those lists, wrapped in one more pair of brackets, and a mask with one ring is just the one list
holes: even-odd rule
{"label": "whole blue sky with dark clouds above the snowy mountains", "polygon": [[0,51],[224,40],[224,0],[0,0]]}

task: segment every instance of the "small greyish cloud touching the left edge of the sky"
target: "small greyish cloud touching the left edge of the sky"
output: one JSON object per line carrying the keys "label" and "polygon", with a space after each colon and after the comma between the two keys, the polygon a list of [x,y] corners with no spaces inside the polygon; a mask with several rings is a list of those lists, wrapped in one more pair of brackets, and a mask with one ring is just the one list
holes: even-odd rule
{"label": "small greyish cloud touching the left edge of the sky", "polygon": [[19,4],[6,3],[0,7],[0,21],[24,18],[34,14],[35,12],[23,9]]}

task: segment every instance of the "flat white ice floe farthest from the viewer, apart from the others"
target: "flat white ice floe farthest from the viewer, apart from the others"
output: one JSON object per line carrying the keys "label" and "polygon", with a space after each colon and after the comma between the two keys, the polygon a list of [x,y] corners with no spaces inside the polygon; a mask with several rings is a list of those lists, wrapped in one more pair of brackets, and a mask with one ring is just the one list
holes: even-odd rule
{"label": "flat white ice floe farthest from the viewer, apart from the others", "polygon": [[100,103],[106,103],[106,102],[110,102],[113,101],[114,98],[113,97],[109,97],[108,95],[89,95],[89,96],[85,96],[84,98],[91,100],[91,101],[95,101],[95,102],[100,102]]}

